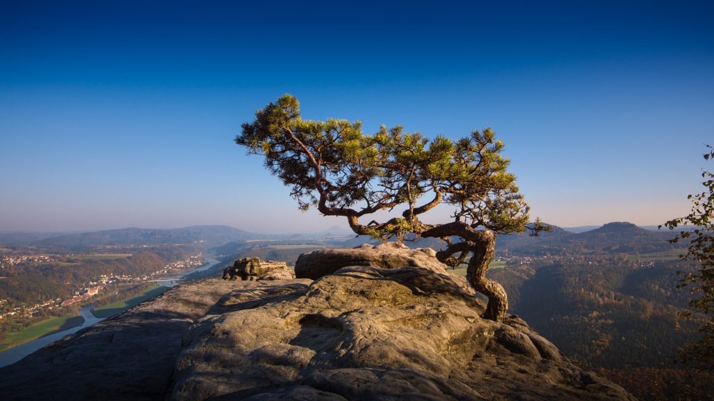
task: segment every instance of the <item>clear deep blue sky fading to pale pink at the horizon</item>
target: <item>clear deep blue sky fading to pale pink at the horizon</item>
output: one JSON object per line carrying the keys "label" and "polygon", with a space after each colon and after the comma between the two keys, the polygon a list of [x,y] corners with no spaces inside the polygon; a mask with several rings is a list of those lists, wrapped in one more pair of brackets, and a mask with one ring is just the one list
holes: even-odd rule
{"label": "clear deep blue sky fading to pale pink at the horizon", "polygon": [[491,126],[548,223],[663,223],[714,144],[714,2],[0,0],[0,230],[346,226],[233,143],[283,93]]}

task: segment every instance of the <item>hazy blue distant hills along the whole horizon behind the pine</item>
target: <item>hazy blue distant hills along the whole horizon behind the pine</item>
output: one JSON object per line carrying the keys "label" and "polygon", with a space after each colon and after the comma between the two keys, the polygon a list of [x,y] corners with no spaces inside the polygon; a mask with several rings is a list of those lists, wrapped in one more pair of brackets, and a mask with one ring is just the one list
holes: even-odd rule
{"label": "hazy blue distant hills along the whole horizon behind the pine", "polygon": [[[668,240],[674,237],[669,231],[653,231],[628,222],[613,222],[593,230],[573,233],[556,225],[549,225],[550,232],[537,236],[527,233],[498,235],[496,248],[501,254],[545,255],[579,250],[584,253],[654,252],[674,247]],[[49,237],[49,238],[48,238]],[[337,238],[337,237],[346,237]],[[366,236],[353,236],[350,231],[333,226],[318,233],[291,235],[268,235],[251,233],[228,225],[192,225],[184,228],[121,228],[89,233],[51,235],[51,233],[0,233],[0,245],[35,245],[67,250],[86,250],[97,246],[126,245],[171,245],[195,244],[201,248],[216,248],[228,243],[243,243],[246,240],[328,240],[333,246],[351,248],[362,243],[378,243]],[[443,248],[441,240],[423,238],[408,242],[413,248]]]}

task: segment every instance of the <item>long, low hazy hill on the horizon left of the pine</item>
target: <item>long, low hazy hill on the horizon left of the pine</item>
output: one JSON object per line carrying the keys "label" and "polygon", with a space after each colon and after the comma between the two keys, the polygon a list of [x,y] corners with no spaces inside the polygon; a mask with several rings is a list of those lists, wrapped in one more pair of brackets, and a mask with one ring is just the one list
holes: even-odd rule
{"label": "long, low hazy hill on the horizon left of the pine", "polygon": [[40,240],[34,245],[69,250],[81,250],[99,245],[170,245],[199,243],[206,248],[236,240],[255,238],[257,235],[228,225],[194,225],[169,230],[147,228],[122,228],[94,233],[60,235]]}

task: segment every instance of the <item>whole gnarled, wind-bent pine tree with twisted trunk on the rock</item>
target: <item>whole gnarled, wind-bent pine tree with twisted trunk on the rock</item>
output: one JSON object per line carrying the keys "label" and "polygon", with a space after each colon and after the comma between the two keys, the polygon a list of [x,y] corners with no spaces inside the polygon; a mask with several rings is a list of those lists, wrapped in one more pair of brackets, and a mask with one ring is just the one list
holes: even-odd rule
{"label": "whole gnarled, wind-bent pine tree with twisted trunk on the rock", "polygon": [[[400,242],[408,234],[441,238],[446,248],[437,258],[448,265],[471,255],[469,283],[489,298],[484,316],[503,319],[506,292],[485,277],[496,234],[543,227],[528,225],[528,205],[491,128],[456,141],[445,136],[430,141],[402,126],[381,126],[366,135],[359,121],[303,120],[290,95],[256,111],[242,128],[236,143],[265,157],[266,168],[291,188],[302,210],[314,206],[323,215],[344,216],[358,235]],[[439,204],[451,205],[451,222],[430,225],[419,219]],[[361,221],[397,207],[406,210],[383,222]]]}

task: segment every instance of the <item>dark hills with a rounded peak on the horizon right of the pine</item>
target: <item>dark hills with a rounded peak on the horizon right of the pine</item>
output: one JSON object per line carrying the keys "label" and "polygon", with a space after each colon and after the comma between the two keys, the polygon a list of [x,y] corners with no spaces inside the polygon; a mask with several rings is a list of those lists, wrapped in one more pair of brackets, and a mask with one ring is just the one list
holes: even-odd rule
{"label": "dark hills with a rounded peak on the horizon right of the pine", "polygon": [[496,249],[501,255],[565,255],[650,253],[683,247],[670,244],[672,233],[645,230],[632,223],[615,222],[585,233],[570,233],[555,225],[537,236],[528,233],[499,235]]}

